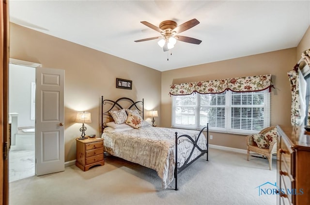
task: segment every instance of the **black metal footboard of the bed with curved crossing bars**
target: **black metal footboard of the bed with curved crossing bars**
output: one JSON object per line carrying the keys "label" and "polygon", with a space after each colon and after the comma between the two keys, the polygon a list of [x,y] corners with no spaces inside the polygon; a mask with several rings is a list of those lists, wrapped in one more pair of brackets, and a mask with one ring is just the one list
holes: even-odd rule
{"label": "black metal footboard of the bed with curved crossing bars", "polygon": [[[198,139],[200,138],[202,132],[203,132],[205,129],[206,129],[206,133],[207,133],[207,137],[206,137],[206,140],[207,140],[207,144],[206,144],[206,145],[207,145],[207,149],[206,149],[206,150],[202,150],[202,149],[198,146],[197,142],[198,142]],[[203,135],[202,135],[202,136],[203,136]],[[178,164],[180,164],[180,163],[178,162],[178,152],[177,152],[177,150],[178,150],[178,144],[180,144],[180,140],[179,140],[179,139],[180,139],[181,137],[186,137],[186,138],[188,138],[188,139],[193,143],[193,148],[192,148],[192,150],[191,150],[189,156],[186,158],[184,164],[183,164],[181,167],[178,168]],[[192,161],[189,162],[189,159],[191,158],[191,156],[192,156],[192,154],[194,153],[194,150],[195,150],[196,148],[201,152],[201,154],[199,154],[195,159],[193,159]],[[200,133],[199,133],[199,135],[198,135],[198,137],[197,137],[196,140],[194,140],[192,137],[190,137],[190,136],[188,136],[188,135],[181,135],[181,136],[178,137],[178,133],[176,132],[176,133],[175,133],[175,150],[176,150],[176,152],[175,152],[175,168],[174,168],[174,178],[175,178],[175,189],[174,189],[174,190],[178,190],[178,174],[179,174],[181,171],[185,170],[186,167],[188,167],[189,165],[191,165],[194,161],[196,161],[198,158],[200,158],[203,154],[207,154],[207,159],[206,159],[206,160],[207,160],[207,161],[209,160],[209,159],[208,159],[208,150],[209,150],[209,123],[207,123],[207,126],[206,126],[206,127],[203,127],[203,128],[202,128],[202,130],[200,131]]]}

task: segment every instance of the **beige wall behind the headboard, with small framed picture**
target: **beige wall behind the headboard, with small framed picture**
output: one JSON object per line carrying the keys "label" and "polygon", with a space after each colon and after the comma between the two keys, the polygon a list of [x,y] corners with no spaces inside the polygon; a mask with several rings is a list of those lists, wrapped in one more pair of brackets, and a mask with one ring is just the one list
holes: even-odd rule
{"label": "beige wall behind the headboard, with small framed picture", "polygon": [[[81,124],[74,123],[77,111],[91,112],[93,122],[86,124],[86,134],[99,136],[101,95],[111,100],[144,98],[145,111],[154,108],[160,115],[160,71],[14,23],[10,26],[10,58],[65,70],[65,161],[76,159],[75,138],[81,134]],[[132,90],[115,88],[115,78],[132,80]]]}

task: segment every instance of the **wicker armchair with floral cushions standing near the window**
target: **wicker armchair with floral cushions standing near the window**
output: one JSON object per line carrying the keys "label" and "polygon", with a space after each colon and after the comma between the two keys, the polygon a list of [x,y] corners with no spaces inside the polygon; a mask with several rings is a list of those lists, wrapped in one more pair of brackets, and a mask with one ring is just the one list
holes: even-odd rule
{"label": "wicker armchair with floral cushions standing near the window", "polygon": [[[275,127],[267,127],[263,129],[259,134],[265,134],[269,132],[270,130],[273,130],[274,128]],[[263,158],[264,156],[266,156],[266,158],[269,161],[269,170],[271,170],[272,154],[277,153],[277,140],[273,140],[269,144],[269,148],[259,148],[256,142],[253,140],[253,137],[251,135],[246,137],[246,141],[247,141],[247,147],[248,147],[248,158],[249,158],[250,152],[262,154]]]}

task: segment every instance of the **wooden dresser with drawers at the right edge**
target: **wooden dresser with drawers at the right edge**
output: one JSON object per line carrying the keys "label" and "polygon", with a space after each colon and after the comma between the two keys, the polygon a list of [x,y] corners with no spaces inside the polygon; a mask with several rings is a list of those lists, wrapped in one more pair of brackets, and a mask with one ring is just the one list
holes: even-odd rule
{"label": "wooden dresser with drawers at the right edge", "polygon": [[310,203],[310,133],[299,126],[278,125],[278,205]]}

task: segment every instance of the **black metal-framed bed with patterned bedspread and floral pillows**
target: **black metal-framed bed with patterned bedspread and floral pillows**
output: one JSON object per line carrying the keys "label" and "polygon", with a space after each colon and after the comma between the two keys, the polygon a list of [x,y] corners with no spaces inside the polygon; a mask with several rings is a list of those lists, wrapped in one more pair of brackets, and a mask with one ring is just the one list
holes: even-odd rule
{"label": "black metal-framed bed with patterned bedspread and floral pillows", "polygon": [[[163,188],[175,178],[174,189],[177,190],[177,177],[181,171],[204,154],[208,161],[208,125],[201,131],[153,127],[143,120],[143,104],[143,100],[134,102],[120,98],[112,101],[101,96],[101,137],[105,152],[155,170]],[[135,124],[130,124],[136,123],[135,120],[128,120],[132,116],[141,121],[138,129]],[[121,117],[127,121],[122,123]]]}

